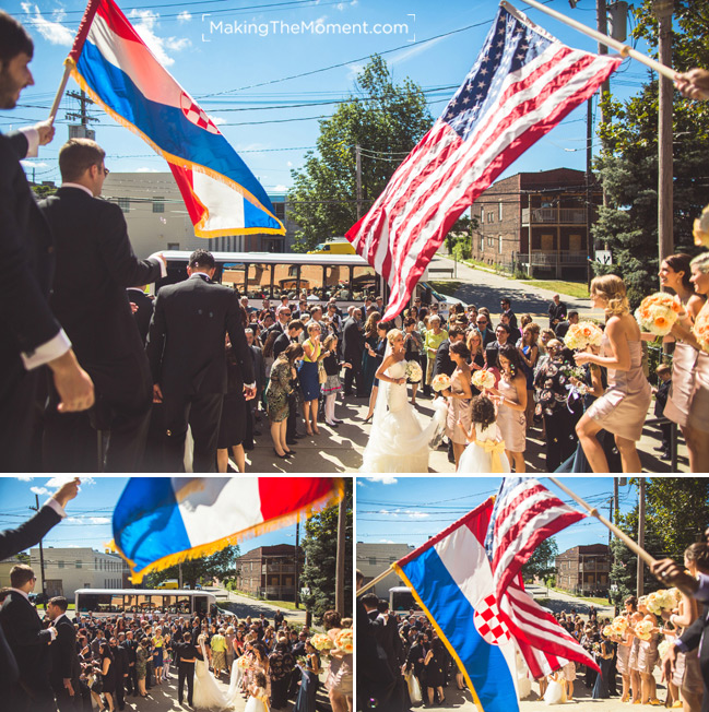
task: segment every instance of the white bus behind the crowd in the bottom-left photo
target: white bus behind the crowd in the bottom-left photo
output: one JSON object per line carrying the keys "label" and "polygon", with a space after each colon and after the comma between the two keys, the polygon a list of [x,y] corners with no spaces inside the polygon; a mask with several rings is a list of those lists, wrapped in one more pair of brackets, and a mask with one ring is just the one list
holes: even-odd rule
{"label": "white bus behind the crowd in the bottom-left photo", "polygon": [[205,591],[155,589],[79,589],[76,614],[94,616],[141,615],[159,610],[167,616],[212,616],[216,598]]}

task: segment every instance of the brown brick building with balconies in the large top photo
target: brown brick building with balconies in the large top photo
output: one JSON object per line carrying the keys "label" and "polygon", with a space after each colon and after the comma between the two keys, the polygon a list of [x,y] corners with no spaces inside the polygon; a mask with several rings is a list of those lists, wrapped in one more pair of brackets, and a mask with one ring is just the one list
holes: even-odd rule
{"label": "brown brick building with balconies in the large top photo", "polygon": [[[601,201],[602,193],[594,186],[591,202],[598,205]],[[554,168],[498,180],[471,206],[471,216],[478,221],[472,258],[512,272],[584,278],[589,254],[593,258],[586,203],[586,174],[581,170]]]}

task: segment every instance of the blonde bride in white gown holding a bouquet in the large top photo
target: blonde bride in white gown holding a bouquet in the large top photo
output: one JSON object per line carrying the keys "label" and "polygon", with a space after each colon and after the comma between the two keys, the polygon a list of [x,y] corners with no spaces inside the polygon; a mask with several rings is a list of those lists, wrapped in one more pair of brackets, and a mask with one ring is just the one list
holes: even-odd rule
{"label": "blonde bride in white gown holding a bouquet in the large top photo", "polygon": [[448,405],[434,400],[434,417],[426,423],[409,402],[404,334],[392,329],[381,366],[379,392],[369,442],[361,472],[428,472],[429,442],[446,425]]}

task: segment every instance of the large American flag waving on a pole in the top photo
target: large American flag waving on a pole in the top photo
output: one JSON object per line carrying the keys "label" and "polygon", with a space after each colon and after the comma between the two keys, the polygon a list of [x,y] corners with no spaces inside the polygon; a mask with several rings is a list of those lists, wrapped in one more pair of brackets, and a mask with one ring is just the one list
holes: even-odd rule
{"label": "large American flag waving on a pole in the top photo", "polygon": [[535,141],[590,98],[621,57],[571,49],[503,1],[453,98],[347,232],[390,287],[383,320],[407,305],[460,214]]}

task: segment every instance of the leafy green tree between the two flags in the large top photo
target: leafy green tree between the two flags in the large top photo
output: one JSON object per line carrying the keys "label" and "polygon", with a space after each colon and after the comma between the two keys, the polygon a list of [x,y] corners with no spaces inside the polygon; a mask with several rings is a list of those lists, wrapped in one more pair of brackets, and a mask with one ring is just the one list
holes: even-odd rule
{"label": "leafy green tree between the two flags in the large top photo", "polygon": [[317,152],[309,151],[305,167],[293,171],[289,217],[298,225],[293,249],[314,249],[357,222],[357,145],[366,212],[432,123],[422,90],[410,79],[394,84],[386,61],[373,56],[355,93],[320,121]]}

